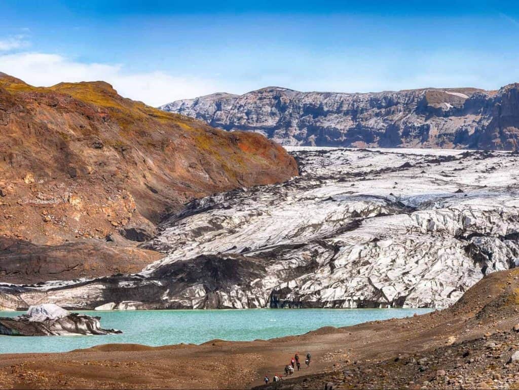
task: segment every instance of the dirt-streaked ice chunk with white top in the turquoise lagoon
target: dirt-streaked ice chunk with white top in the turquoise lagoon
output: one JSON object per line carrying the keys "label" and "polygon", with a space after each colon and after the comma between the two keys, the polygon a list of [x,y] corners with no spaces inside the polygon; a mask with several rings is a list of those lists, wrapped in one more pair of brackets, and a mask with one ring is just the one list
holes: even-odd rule
{"label": "dirt-streaked ice chunk with white top in the turquoise lagoon", "polygon": [[101,317],[71,313],[51,303],[31,306],[27,313],[14,318],[0,317],[0,334],[11,336],[59,336],[74,334],[114,334],[116,329],[102,329]]}

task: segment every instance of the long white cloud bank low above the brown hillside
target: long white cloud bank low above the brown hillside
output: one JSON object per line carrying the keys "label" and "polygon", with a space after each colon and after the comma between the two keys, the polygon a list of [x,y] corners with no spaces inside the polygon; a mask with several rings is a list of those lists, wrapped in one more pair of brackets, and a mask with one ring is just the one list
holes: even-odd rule
{"label": "long white cloud bank low above the brown hillside", "polygon": [[120,95],[158,106],[218,90],[213,80],[165,72],[126,72],[120,64],[81,63],[56,54],[21,52],[0,55],[0,72],[48,87],[60,82],[103,80]]}

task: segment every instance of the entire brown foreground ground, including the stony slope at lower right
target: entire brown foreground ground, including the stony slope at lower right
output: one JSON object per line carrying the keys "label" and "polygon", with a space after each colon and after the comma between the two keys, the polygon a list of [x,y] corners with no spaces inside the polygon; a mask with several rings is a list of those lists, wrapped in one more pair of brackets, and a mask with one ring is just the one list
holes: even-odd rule
{"label": "entire brown foreground ground, including the stony slope at lower right", "polygon": [[310,368],[277,387],[516,388],[518,304],[519,270],[501,271],[421,316],[252,342],[0,355],[0,388],[249,388],[306,352]]}

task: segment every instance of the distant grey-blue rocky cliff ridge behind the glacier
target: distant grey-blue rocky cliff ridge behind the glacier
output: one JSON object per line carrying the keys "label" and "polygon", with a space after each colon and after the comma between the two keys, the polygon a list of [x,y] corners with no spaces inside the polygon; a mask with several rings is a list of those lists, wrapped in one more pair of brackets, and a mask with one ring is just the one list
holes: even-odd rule
{"label": "distant grey-blue rocky cliff ridge behind the glacier", "polygon": [[284,145],[514,150],[519,140],[519,84],[498,91],[377,93],[267,87],[178,100],[160,109],[225,130],[261,132]]}

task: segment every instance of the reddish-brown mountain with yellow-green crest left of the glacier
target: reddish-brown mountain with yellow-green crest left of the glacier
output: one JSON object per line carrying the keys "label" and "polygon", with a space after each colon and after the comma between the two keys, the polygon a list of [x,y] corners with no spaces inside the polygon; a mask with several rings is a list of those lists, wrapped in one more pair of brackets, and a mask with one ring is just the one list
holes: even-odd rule
{"label": "reddish-brown mountain with yellow-green crest left of the glacier", "polygon": [[161,255],[134,241],[186,201],[297,174],[261,135],[165,113],[104,82],[39,88],[0,73],[0,281],[138,272]]}

